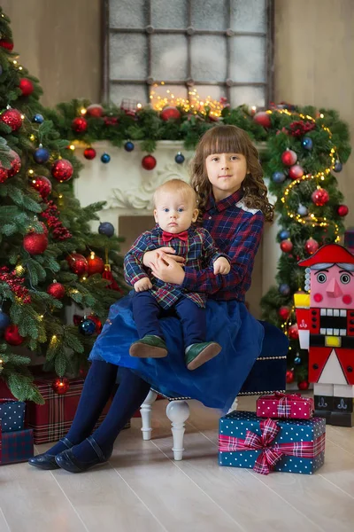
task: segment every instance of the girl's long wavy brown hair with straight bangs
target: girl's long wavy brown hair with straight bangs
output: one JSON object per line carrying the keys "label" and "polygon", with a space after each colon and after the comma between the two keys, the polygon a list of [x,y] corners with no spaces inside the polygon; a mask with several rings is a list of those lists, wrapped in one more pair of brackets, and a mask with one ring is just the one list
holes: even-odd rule
{"label": "girl's long wavy brown hair with straight bangs", "polygon": [[231,125],[218,125],[208,129],[196,146],[196,154],[191,162],[190,184],[198,197],[199,217],[212,192],[212,184],[206,173],[205,159],[212,153],[242,153],[247,162],[248,174],[242,181],[242,201],[246,207],[258,208],[266,221],[273,220],[274,207],[267,198],[267,188],[263,181],[263,170],[258,160],[258,151],[250,137],[241,128]]}

